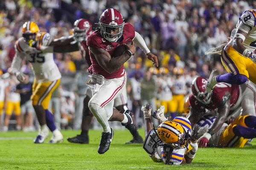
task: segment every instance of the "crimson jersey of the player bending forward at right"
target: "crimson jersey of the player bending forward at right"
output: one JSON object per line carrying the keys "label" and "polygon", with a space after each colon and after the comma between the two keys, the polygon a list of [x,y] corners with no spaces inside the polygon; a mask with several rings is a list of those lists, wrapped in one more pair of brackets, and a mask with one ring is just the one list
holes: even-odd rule
{"label": "crimson jersey of the player bending forward at right", "polygon": [[212,100],[209,104],[205,105],[204,103],[198,101],[194,95],[189,96],[189,102],[192,108],[194,109],[208,109],[210,111],[219,108],[224,105],[228,99],[228,94],[230,96],[230,106],[236,104],[239,98],[239,85],[231,85],[227,83],[217,83],[212,91]]}

